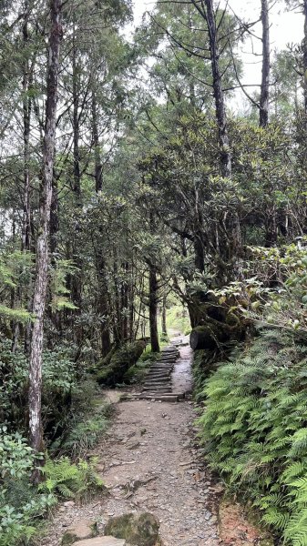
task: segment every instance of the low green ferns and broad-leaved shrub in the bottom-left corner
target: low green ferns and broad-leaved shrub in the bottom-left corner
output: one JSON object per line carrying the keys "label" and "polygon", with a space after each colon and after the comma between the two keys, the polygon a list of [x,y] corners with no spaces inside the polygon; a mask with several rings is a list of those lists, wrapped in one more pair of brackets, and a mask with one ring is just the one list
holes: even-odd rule
{"label": "low green ferns and broad-leaved shrub in the bottom-left corner", "polygon": [[47,459],[42,482],[31,482],[36,455],[18,433],[0,430],[0,546],[28,544],[46,512],[61,498],[80,500],[103,488],[95,460]]}

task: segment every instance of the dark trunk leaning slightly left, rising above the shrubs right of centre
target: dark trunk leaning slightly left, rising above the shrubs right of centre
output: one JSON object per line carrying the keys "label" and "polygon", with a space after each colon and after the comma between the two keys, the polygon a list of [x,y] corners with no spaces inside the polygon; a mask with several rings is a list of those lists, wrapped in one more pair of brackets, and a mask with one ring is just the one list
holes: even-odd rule
{"label": "dark trunk leaning slightly left, rising above the shrubs right of centre", "polygon": [[206,18],[209,32],[213,95],[215,100],[215,113],[220,140],[221,175],[222,177],[231,177],[230,139],[228,135],[225,101],[221,85],[217,27],[212,0],[205,0],[205,5],[207,8]]}

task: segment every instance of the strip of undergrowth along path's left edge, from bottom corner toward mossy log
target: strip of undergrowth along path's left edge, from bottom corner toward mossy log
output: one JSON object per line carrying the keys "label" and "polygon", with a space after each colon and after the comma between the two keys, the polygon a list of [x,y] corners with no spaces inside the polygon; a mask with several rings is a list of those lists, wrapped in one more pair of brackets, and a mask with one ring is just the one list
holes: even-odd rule
{"label": "strip of undergrowth along path's left edge, from bottom corner toward mossy log", "polygon": [[0,427],[0,546],[28,544],[58,500],[81,501],[103,489],[97,461],[82,458],[106,432],[111,412],[92,380],[75,390],[67,429],[49,443],[38,486],[30,479],[36,464],[33,450],[20,434]]}

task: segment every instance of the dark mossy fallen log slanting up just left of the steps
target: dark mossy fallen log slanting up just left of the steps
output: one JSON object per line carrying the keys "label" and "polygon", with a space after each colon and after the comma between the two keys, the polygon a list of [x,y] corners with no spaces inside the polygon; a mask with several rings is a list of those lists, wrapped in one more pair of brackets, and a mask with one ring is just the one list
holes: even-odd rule
{"label": "dark mossy fallen log slanting up just left of the steps", "polygon": [[102,360],[97,365],[96,379],[99,385],[107,387],[115,387],[117,383],[121,383],[132,366],[136,364],[146,343],[143,340],[127,343],[113,352],[111,358],[106,362]]}

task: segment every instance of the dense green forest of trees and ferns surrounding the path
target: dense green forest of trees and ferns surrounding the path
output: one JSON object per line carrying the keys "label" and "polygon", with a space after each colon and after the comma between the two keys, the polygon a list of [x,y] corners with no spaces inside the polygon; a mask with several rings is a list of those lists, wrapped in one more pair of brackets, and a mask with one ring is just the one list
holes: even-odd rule
{"label": "dense green forest of trees and ferns surrounding the path", "polygon": [[[304,32],[283,50],[276,4]],[[0,3],[1,546],[101,487],[88,399],[172,319],[210,467],[307,544],[307,0],[252,9]]]}

